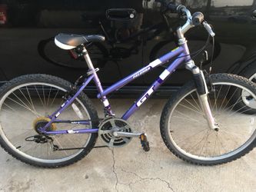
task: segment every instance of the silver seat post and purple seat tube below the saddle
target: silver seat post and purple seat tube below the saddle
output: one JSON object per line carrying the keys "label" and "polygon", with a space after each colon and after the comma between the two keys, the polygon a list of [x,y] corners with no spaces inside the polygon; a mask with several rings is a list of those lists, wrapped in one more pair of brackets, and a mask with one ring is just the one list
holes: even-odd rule
{"label": "silver seat post and purple seat tube below the saddle", "polygon": [[[91,62],[91,58],[88,54],[88,51],[86,50],[86,48],[84,47],[83,51],[82,51],[85,61],[88,65],[88,74],[93,75],[93,79],[95,81],[95,85],[98,89],[98,93],[101,94],[103,92],[103,88],[101,86],[101,81],[98,78],[98,74],[95,70],[95,67],[93,66],[92,62]],[[105,107],[105,115],[106,116],[114,116],[115,114],[113,113],[113,111],[111,110],[111,106],[108,102],[108,98],[106,96],[101,96],[101,101]]]}

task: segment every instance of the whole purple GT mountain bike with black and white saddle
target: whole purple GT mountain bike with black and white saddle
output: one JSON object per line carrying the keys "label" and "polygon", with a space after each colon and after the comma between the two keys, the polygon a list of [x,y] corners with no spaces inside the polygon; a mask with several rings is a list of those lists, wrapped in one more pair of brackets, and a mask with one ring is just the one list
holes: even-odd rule
{"label": "whole purple GT mountain bike with black and white saddle", "polygon": [[[38,167],[63,167],[85,157],[98,136],[105,143],[97,147],[123,147],[138,137],[149,151],[147,136],[135,132],[128,118],[181,65],[192,72],[185,84],[165,105],[161,114],[161,137],[168,149],[192,164],[223,164],[247,154],[256,144],[255,114],[243,103],[256,98],[256,86],[234,74],[204,73],[194,65],[185,32],[203,25],[211,37],[214,32],[201,12],[193,15],[183,5],[168,4],[172,12],[185,16],[185,25],[176,31],[178,48],[152,61],[141,70],[121,79],[105,90],[86,50],[88,42],[104,41],[101,35],[59,34],[55,44],[75,49],[85,57],[88,73],[78,86],[48,74],[27,74],[9,81],[0,89],[0,144],[13,157]],[[168,64],[169,63],[169,64]],[[168,64],[135,104],[115,117],[107,95],[156,67]],[[84,89],[90,81],[98,88],[105,118],[97,111]],[[240,94],[237,94],[240,93]]]}

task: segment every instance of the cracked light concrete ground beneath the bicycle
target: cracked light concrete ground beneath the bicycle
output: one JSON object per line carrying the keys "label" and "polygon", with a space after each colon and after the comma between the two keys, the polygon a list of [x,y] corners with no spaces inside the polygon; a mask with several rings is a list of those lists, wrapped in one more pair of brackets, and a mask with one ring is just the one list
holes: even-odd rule
{"label": "cracked light concrete ground beneath the bicycle", "polygon": [[[117,116],[133,102],[110,101]],[[101,105],[94,102],[100,110]],[[150,100],[129,120],[136,130],[148,134],[148,153],[134,139],[126,147],[95,149],[68,167],[42,169],[0,149],[0,191],[256,191],[255,149],[237,161],[214,167],[191,165],[171,154],[159,131],[165,102]]]}

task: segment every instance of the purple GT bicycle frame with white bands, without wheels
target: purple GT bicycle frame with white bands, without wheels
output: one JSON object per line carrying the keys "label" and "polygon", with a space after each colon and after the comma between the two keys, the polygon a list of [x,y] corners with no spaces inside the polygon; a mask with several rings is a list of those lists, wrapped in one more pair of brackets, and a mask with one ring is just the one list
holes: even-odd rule
{"label": "purple GT bicycle frame with white bands, without wheels", "polygon": [[138,110],[138,108],[143,104],[150,96],[153,94],[160,86],[164,83],[164,81],[184,62],[191,61],[191,57],[189,55],[188,45],[187,43],[181,45],[178,48],[175,48],[171,52],[169,52],[166,55],[163,55],[161,58],[156,59],[155,61],[152,61],[144,68],[141,68],[139,71],[136,71],[133,74],[128,75],[128,77],[121,79],[117,83],[111,85],[109,88],[103,90],[101,87],[101,83],[98,79],[98,75],[96,72],[92,73],[87,79],[85,79],[85,82],[81,85],[81,88],[79,88],[78,92],[72,97],[69,98],[65,103],[62,104],[60,108],[58,108],[57,111],[55,111],[52,115],[49,116],[51,121],[48,122],[44,127],[40,128],[40,131],[42,131],[43,134],[92,134],[98,132],[98,127],[91,128],[91,129],[78,129],[78,130],[62,130],[62,131],[46,131],[46,128],[50,126],[52,123],[71,123],[71,124],[91,124],[91,121],[83,120],[83,121],[70,121],[70,120],[58,120],[58,116],[62,114],[62,111],[65,110],[65,108],[68,108],[68,106],[75,101],[75,98],[78,97],[78,95],[85,89],[85,87],[88,85],[88,83],[93,79],[95,81],[96,87],[98,88],[98,95],[97,98],[100,98],[101,101],[105,104],[105,108],[109,112],[109,114],[113,114],[111,111],[110,104],[108,103],[108,99],[106,96],[110,94],[113,91],[117,91],[118,89],[124,87],[126,84],[130,83],[131,81],[135,80],[136,78],[140,77],[143,74],[148,73],[149,71],[153,70],[154,68],[163,65],[170,61],[171,59],[175,59],[175,61],[171,62],[171,64],[168,66],[168,68],[163,71],[158,79],[151,84],[151,86],[148,88],[147,91],[145,91],[145,94],[142,94],[142,96],[131,106],[131,108],[128,109],[128,111],[125,112],[125,114],[121,117],[124,120],[128,120],[130,118],[131,114],[134,114],[135,111]]}

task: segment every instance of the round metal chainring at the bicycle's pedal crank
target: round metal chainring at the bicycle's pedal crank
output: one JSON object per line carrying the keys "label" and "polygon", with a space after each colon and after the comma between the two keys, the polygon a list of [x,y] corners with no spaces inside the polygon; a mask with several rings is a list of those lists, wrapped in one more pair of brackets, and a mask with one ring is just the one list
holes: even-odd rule
{"label": "round metal chainring at the bicycle's pedal crank", "polygon": [[98,134],[108,147],[124,147],[131,142],[131,137],[117,137],[114,131],[131,133],[131,126],[121,118],[108,118],[101,122]]}

